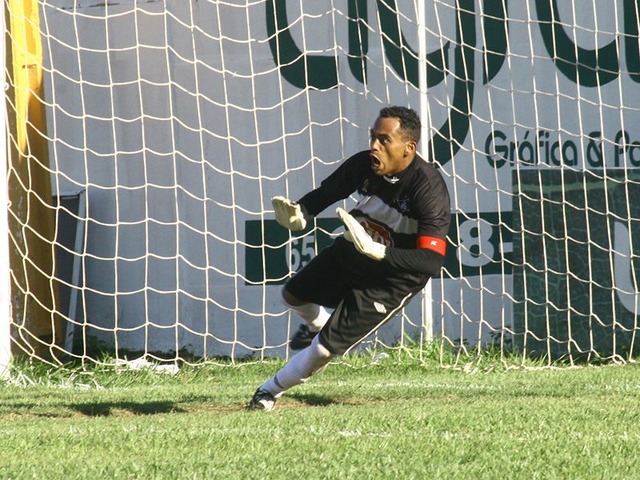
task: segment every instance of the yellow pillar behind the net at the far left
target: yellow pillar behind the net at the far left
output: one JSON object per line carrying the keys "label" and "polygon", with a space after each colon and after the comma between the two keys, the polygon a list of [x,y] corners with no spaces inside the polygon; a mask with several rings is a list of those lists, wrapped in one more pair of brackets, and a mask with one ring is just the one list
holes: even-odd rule
{"label": "yellow pillar behind the net at the far left", "polygon": [[10,338],[16,353],[55,361],[62,320],[57,309],[39,2],[9,0],[6,5]]}

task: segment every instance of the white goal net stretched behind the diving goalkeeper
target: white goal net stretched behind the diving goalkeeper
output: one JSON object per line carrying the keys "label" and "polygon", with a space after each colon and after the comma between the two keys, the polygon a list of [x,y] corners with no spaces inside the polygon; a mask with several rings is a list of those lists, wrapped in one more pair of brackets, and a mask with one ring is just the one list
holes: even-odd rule
{"label": "white goal net stretched behind the diving goalkeeper", "polygon": [[288,232],[270,199],[368,148],[389,104],[419,110],[452,225],[362,348],[637,355],[638,2],[5,4],[14,355],[289,355],[280,289],[341,225]]}

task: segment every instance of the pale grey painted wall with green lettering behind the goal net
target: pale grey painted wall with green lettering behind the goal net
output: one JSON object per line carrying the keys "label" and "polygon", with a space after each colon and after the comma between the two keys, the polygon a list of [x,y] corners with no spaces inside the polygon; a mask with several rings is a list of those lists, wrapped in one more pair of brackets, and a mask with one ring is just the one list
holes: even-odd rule
{"label": "pale grey painted wall with green lettering behind the goal net", "polygon": [[[86,191],[89,334],[131,350],[282,354],[297,321],[281,283],[338,225],[329,209],[313,242],[289,238],[270,198],[317,186],[367,148],[382,106],[421,96],[422,151],[447,177],[457,237],[434,282],[435,333],[513,334],[518,174],[638,167],[638,72],[622,2],[549,2],[553,35],[581,61],[616,42],[617,70],[573,78],[541,2],[509,2],[504,19],[483,3],[429,1],[422,25],[415,2],[43,2],[53,183]],[[441,76],[415,62],[420,37],[442,52],[429,57]],[[416,302],[384,340],[422,326]]]}

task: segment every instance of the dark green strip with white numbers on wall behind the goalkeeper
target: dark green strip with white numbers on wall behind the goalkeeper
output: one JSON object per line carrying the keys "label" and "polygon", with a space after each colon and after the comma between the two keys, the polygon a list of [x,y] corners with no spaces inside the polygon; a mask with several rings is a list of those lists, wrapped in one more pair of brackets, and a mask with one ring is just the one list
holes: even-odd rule
{"label": "dark green strip with white numbers on wall behind the goalkeeper", "polygon": [[[479,216],[454,215],[449,231],[449,248],[444,276],[506,275],[511,271],[510,212],[483,212]],[[249,285],[279,285],[292,272],[306,265],[342,231],[337,218],[316,219],[315,231],[289,236],[275,220],[245,223],[245,277]]]}

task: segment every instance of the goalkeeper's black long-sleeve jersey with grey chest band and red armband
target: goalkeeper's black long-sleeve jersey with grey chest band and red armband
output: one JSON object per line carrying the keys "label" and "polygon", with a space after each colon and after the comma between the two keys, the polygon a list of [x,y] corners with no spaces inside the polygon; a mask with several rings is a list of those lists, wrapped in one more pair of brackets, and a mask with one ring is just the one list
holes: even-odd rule
{"label": "goalkeeper's black long-sleeve jersey with grey chest band and red armband", "polygon": [[407,273],[438,274],[451,221],[442,175],[416,155],[398,175],[379,176],[371,169],[369,153],[348,158],[299,203],[316,216],[357,191],[361,200],[350,213],[374,241],[387,246],[382,262]]}

